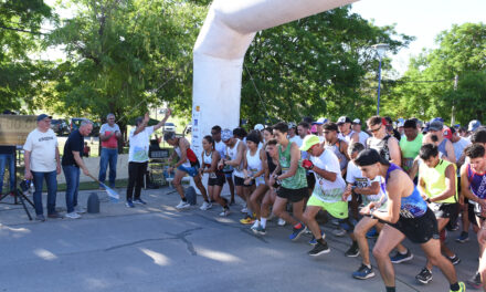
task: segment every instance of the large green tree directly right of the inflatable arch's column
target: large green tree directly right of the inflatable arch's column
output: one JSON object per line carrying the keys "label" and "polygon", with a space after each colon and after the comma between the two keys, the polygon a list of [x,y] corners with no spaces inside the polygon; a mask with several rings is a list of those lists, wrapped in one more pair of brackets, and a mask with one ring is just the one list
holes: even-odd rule
{"label": "large green tree directly right of the inflatable arch's column", "polygon": [[371,46],[389,43],[395,53],[411,40],[393,27],[374,27],[349,7],[258,32],[245,59],[241,116],[251,124],[267,116],[368,117],[376,111],[377,87],[368,90],[369,72],[378,69]]}

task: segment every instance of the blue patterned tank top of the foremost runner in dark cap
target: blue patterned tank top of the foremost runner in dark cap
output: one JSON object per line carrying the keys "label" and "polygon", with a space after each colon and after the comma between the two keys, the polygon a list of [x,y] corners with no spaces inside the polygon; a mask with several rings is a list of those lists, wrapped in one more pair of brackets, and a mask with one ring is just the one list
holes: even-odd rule
{"label": "blue patterned tank top of the foremost runner in dark cap", "polygon": [[[395,164],[390,164],[390,167],[387,170],[387,176],[384,177],[384,184],[381,182],[381,190],[387,194],[387,181],[390,178],[390,173],[393,170],[403,171]],[[427,211],[427,204],[420,196],[416,186],[413,188],[413,191],[408,197],[400,198],[400,217],[402,218],[419,218],[425,215]]]}

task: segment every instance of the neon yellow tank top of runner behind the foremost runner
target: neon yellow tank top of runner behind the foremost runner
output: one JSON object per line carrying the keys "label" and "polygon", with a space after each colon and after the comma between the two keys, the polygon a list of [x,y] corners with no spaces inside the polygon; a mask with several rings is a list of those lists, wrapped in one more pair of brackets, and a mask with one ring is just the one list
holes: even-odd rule
{"label": "neon yellow tank top of runner behind the foremost runner", "polygon": [[[427,167],[425,164],[420,165],[419,170],[419,177],[423,178],[425,181],[425,194],[429,198],[436,197],[441,195],[445,189],[445,169],[451,165],[450,161],[446,160],[439,160],[439,164],[434,168]],[[454,169],[455,173],[455,169]],[[441,200],[437,202],[446,202],[446,204],[454,204],[457,201],[456,195],[457,195],[457,176],[455,176],[455,186],[456,189],[454,191],[454,196]]]}

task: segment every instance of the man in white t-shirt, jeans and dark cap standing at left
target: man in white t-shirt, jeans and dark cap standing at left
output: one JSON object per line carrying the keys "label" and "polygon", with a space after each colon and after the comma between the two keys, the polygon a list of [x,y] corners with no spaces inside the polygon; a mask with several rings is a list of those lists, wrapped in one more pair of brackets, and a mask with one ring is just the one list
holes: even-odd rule
{"label": "man in white t-shirt, jeans and dark cap standing at left", "polygon": [[45,221],[42,207],[43,181],[47,185],[47,217],[62,218],[55,211],[57,192],[56,176],[61,174],[61,160],[57,149],[57,136],[51,129],[51,116],[38,116],[38,127],[29,133],[24,149],[25,179],[33,179],[35,220]]}

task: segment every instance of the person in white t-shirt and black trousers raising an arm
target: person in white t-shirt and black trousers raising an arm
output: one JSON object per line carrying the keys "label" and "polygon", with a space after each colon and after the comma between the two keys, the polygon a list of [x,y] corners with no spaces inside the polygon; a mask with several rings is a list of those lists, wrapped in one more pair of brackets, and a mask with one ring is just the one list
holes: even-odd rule
{"label": "person in white t-shirt and black trousers raising an arm", "polygon": [[[166,116],[157,125],[148,127],[150,117],[148,113],[145,117],[138,117],[135,121],[136,127],[128,135],[130,140],[130,149],[128,150],[128,186],[127,202],[128,208],[134,208],[135,204],[146,205],[140,198],[141,186],[144,185],[144,176],[147,173],[148,149],[150,145],[150,135],[161,128],[170,116],[170,108],[166,109]],[[135,188],[135,195],[134,195]]]}

